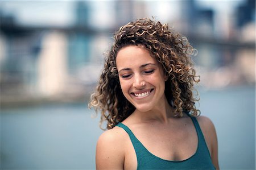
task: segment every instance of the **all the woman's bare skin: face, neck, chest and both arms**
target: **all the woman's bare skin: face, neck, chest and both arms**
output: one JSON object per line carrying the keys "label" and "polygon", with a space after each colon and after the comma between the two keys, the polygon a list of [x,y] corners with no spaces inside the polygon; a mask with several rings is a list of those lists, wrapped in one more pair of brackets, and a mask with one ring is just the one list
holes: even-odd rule
{"label": "all the woman's bare skin: face, neck, chest and both arms", "polygon": [[[136,108],[122,123],[133,131],[148,151],[162,159],[185,160],[195,154],[198,144],[196,129],[188,116],[174,116],[164,95],[164,82],[168,77],[158,61],[143,46],[136,45],[120,49],[116,61],[122,92]],[[214,125],[203,116],[197,121],[212,162],[219,169]],[[133,144],[122,128],[105,131],[98,139],[96,169],[137,169]]]}

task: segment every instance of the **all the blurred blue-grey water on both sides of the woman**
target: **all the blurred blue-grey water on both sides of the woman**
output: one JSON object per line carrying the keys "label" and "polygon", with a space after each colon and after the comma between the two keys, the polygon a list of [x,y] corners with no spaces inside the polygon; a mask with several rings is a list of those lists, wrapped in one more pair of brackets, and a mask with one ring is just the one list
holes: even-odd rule
{"label": "all the blurred blue-grey water on both sides of the woman", "polygon": [[[221,169],[255,169],[255,87],[200,89]],[[1,110],[1,169],[95,169],[102,130],[86,103]]]}

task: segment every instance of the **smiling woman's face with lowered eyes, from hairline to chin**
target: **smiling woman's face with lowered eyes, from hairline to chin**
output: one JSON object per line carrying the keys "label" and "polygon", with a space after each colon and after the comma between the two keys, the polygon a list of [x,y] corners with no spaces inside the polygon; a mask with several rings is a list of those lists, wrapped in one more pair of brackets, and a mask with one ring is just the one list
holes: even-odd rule
{"label": "smiling woman's face with lowered eyes, from hairline to chin", "polygon": [[146,48],[123,47],[117,53],[116,63],[122,92],[136,109],[145,112],[164,103],[167,76]]}

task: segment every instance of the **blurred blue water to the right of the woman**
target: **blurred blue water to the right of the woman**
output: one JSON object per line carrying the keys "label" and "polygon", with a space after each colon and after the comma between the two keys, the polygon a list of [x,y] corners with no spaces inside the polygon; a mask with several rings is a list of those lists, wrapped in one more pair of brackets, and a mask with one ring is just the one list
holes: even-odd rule
{"label": "blurred blue water to the right of the woman", "polygon": [[222,169],[255,169],[255,87],[201,92],[200,109],[212,119]]}

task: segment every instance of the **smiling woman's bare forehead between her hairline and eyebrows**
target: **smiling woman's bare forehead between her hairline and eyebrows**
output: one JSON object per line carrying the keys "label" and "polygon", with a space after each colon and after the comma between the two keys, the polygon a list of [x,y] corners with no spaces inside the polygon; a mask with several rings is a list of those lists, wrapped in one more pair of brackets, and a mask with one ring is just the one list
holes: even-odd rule
{"label": "smiling woman's bare forehead between her hairline and eyebrows", "polygon": [[117,69],[141,66],[146,63],[158,64],[143,46],[129,45],[121,48],[117,53]]}

